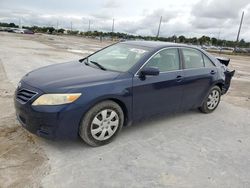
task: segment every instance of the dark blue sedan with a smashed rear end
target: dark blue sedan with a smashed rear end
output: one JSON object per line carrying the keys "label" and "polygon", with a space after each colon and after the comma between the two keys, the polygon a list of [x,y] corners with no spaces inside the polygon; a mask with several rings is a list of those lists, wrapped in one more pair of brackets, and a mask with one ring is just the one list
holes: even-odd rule
{"label": "dark blue sedan with a smashed rear end", "polygon": [[234,74],[228,63],[187,45],[121,42],[26,74],[15,92],[17,118],[42,137],[80,135],[91,146],[104,145],[142,118],[214,111]]}

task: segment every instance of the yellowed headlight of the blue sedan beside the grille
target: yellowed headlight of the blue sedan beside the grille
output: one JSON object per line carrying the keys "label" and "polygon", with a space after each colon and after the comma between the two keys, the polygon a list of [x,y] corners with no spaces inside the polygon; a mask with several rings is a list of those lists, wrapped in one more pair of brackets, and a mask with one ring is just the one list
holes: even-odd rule
{"label": "yellowed headlight of the blue sedan beside the grille", "polygon": [[60,105],[68,104],[77,100],[81,96],[81,93],[69,93],[69,94],[44,94],[36,99],[32,105]]}

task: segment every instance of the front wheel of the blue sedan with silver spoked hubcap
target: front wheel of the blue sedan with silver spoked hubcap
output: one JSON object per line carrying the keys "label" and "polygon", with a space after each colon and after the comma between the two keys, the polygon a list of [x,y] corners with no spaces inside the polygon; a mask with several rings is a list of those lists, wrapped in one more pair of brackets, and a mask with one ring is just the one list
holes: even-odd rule
{"label": "front wheel of the blue sedan with silver spoked hubcap", "polygon": [[90,146],[102,146],[117,136],[123,123],[124,113],[121,107],[111,100],[103,101],[85,114],[79,127],[79,135]]}

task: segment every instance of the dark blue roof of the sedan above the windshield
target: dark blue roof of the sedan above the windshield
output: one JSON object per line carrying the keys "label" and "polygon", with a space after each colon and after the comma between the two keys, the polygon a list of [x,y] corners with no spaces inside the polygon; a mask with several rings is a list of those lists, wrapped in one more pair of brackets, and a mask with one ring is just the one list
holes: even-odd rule
{"label": "dark blue roof of the sedan above the windshield", "polygon": [[148,47],[148,48],[166,48],[166,47],[192,47],[197,48],[192,45],[185,45],[185,44],[178,44],[178,43],[172,43],[172,42],[162,42],[162,41],[125,41],[121,42],[122,44],[130,44],[130,45],[136,45],[136,46],[142,46],[142,47]]}

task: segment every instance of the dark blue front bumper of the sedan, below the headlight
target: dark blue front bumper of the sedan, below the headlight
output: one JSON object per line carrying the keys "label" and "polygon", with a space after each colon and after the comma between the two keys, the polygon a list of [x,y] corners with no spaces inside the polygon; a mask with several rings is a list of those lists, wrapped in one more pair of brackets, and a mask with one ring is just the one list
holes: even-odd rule
{"label": "dark blue front bumper of the sedan, below the headlight", "polygon": [[17,100],[17,91],[15,93],[16,116],[25,129],[49,139],[78,137],[78,128],[84,109],[74,103],[57,106],[32,106],[32,102],[43,93],[25,83],[22,83],[23,87],[38,93],[34,99],[26,103]]}

